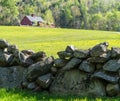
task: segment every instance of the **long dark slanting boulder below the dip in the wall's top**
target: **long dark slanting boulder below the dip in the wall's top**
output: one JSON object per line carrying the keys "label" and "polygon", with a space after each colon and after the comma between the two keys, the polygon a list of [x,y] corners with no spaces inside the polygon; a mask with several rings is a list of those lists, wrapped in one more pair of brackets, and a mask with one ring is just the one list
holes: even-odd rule
{"label": "long dark slanting boulder below the dip in the wall's top", "polygon": [[39,76],[47,74],[50,72],[53,66],[53,57],[46,58],[45,61],[37,62],[28,68],[27,79],[29,81],[34,81]]}

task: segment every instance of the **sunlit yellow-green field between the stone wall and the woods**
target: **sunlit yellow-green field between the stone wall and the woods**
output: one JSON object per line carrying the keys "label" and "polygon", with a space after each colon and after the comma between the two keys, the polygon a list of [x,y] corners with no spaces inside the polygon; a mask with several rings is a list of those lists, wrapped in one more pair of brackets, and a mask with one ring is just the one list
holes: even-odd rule
{"label": "sunlit yellow-green field between the stone wall and the woods", "polygon": [[120,47],[120,33],[107,31],[2,26],[0,27],[0,38],[18,45],[20,50],[42,50],[49,56],[56,56],[56,53],[64,50],[66,45],[87,49],[107,41],[110,47]]}

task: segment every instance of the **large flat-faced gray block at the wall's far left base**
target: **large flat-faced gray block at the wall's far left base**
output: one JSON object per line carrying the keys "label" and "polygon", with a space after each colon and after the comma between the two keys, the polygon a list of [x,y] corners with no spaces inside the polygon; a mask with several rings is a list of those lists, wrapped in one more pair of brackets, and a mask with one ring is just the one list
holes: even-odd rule
{"label": "large flat-faced gray block at the wall's far left base", "polygon": [[0,88],[21,88],[26,69],[21,66],[0,67]]}

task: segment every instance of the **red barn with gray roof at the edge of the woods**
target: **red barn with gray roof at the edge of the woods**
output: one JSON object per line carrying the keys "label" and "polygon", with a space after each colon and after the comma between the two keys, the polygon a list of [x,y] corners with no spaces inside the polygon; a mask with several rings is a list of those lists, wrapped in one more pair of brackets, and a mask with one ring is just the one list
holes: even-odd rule
{"label": "red barn with gray roof at the edge of the woods", "polygon": [[37,17],[34,16],[33,14],[31,16],[25,16],[20,24],[21,25],[29,25],[29,26],[33,26],[33,25],[38,25],[40,23],[44,23],[45,21],[41,18],[41,17]]}

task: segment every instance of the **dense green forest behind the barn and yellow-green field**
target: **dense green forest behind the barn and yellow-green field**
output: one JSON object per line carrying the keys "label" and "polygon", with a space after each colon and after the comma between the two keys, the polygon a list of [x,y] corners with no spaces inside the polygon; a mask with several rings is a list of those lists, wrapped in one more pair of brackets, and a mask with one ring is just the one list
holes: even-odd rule
{"label": "dense green forest behind the barn and yellow-green field", "polygon": [[56,27],[120,31],[120,0],[0,0],[0,24],[17,25],[25,15]]}

